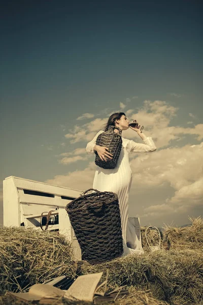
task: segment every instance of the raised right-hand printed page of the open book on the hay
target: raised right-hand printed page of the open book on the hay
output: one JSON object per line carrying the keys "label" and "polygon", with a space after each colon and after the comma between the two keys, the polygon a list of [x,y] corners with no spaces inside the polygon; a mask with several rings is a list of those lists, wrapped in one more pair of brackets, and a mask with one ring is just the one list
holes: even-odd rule
{"label": "raised right-hand printed page of the open book on the hay", "polygon": [[103,272],[99,272],[78,277],[63,296],[92,302],[95,289],[102,275]]}

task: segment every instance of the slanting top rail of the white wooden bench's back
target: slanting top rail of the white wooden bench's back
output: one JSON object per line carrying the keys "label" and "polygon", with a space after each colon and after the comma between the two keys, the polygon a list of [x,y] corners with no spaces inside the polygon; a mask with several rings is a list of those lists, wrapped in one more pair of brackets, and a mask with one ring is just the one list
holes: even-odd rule
{"label": "slanting top rail of the white wooden bench's back", "polygon": [[46,184],[45,182],[28,180],[28,179],[23,179],[20,177],[10,176],[10,177],[7,177],[6,179],[10,179],[11,177],[14,178],[15,185],[19,189],[45,192],[45,193],[56,194],[56,195],[60,195],[60,196],[69,196],[69,197],[73,197],[73,198],[79,197],[80,194],[82,193],[82,191],[80,191],[80,190],[72,190],[70,188],[52,186],[50,184]]}

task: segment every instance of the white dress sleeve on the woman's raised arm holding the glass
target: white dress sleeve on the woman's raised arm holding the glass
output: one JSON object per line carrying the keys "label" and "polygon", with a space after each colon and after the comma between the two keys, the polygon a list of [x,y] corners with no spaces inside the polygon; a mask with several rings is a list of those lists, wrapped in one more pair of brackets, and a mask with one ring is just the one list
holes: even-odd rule
{"label": "white dress sleeve on the woman's raised arm holding the glass", "polygon": [[129,140],[128,151],[133,153],[150,153],[156,150],[156,146],[151,137],[147,137],[144,140],[144,144],[136,143],[133,140]]}

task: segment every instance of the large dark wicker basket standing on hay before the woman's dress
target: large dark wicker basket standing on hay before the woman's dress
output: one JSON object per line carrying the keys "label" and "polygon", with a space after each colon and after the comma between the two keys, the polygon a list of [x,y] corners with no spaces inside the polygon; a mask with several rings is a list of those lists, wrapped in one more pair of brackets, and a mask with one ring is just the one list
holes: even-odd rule
{"label": "large dark wicker basket standing on hay before the woman's dress", "polygon": [[[94,191],[92,194],[86,194]],[[68,203],[65,210],[78,239],[82,259],[92,264],[122,255],[123,242],[118,196],[89,189]]]}

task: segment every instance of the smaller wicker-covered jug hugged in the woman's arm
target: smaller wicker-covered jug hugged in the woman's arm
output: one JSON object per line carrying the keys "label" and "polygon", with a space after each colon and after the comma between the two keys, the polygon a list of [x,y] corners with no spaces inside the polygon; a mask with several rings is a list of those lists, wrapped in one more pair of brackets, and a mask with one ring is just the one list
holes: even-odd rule
{"label": "smaller wicker-covered jug hugged in the woman's arm", "polygon": [[[118,129],[119,133],[115,133],[114,129]],[[106,169],[115,168],[122,148],[121,129],[112,125],[109,126],[108,131],[98,135],[96,139],[96,145],[109,148],[109,153],[113,155],[113,158],[106,158],[107,162],[103,161],[99,158],[97,152],[95,151],[95,164]]]}

